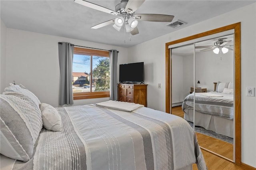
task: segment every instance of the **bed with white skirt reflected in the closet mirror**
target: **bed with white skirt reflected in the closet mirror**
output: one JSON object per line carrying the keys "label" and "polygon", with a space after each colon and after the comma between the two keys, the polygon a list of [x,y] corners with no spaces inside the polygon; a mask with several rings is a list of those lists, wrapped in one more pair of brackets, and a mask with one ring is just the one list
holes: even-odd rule
{"label": "bed with white skirt reflected in the closet mirror", "polygon": [[204,127],[233,138],[234,119],[234,90],[232,82],[214,83],[214,91],[195,93],[195,119],[194,119],[194,93],[186,96],[182,103],[184,119],[194,122],[194,125]]}

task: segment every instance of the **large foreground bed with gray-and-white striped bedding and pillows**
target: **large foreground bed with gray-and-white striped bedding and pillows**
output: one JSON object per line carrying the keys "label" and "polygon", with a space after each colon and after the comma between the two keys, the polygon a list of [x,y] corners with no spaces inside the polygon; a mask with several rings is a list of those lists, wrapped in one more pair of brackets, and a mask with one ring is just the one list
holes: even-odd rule
{"label": "large foreground bed with gray-and-white striped bedding and pillows", "polygon": [[22,85],[1,94],[1,170],[206,170],[182,118],[134,103],[54,108]]}

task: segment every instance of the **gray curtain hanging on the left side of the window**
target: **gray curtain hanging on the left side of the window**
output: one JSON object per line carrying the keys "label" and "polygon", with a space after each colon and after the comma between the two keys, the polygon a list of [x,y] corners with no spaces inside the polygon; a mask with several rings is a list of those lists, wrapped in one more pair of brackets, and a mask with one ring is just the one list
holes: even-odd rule
{"label": "gray curtain hanging on the left side of the window", "polygon": [[60,64],[59,105],[73,105],[72,63],[74,45],[66,42],[59,42],[58,45]]}

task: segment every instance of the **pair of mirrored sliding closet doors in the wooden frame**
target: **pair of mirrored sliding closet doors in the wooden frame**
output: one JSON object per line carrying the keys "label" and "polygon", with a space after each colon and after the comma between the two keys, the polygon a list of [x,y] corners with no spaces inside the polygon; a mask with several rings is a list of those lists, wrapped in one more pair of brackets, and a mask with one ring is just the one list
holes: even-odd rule
{"label": "pair of mirrored sliding closet doors in the wooden frame", "polygon": [[234,118],[240,114],[234,104],[240,103],[240,92],[234,97],[240,82],[240,75],[234,79],[240,71],[234,46],[234,30],[169,46],[170,113],[188,121],[202,149],[232,162],[239,160]]}

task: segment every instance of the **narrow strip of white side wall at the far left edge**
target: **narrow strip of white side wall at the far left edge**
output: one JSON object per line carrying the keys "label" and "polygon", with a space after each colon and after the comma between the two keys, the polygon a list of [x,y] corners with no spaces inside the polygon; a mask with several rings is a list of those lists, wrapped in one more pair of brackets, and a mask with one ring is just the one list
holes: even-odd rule
{"label": "narrow strip of white side wall at the far left edge", "polygon": [[4,23],[1,20],[1,33],[0,33],[0,93],[2,93],[4,91],[5,88],[5,78],[6,78],[6,32],[7,32],[7,28],[4,25]]}

